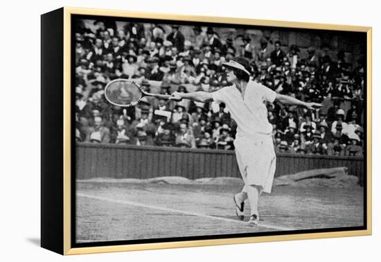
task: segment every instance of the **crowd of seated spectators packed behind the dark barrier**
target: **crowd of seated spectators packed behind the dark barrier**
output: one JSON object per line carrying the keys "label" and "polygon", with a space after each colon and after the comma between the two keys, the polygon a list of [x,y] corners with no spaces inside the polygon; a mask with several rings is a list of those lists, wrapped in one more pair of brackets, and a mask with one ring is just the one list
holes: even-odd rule
{"label": "crowd of seated spectators packed behind the dark barrier", "polygon": [[[323,103],[310,112],[268,104],[277,152],[361,156],[364,64],[329,46],[317,51],[250,35],[220,38],[215,29],[110,21],[76,26],[76,141],[231,150],[236,123],[223,103],[145,97],[135,107],[107,103],[104,88],[134,78],[146,91],[215,91],[229,85],[222,62],[242,56],[252,78],[274,91]],[[191,28],[191,30],[189,30]],[[332,53],[332,52],[331,52]]]}

